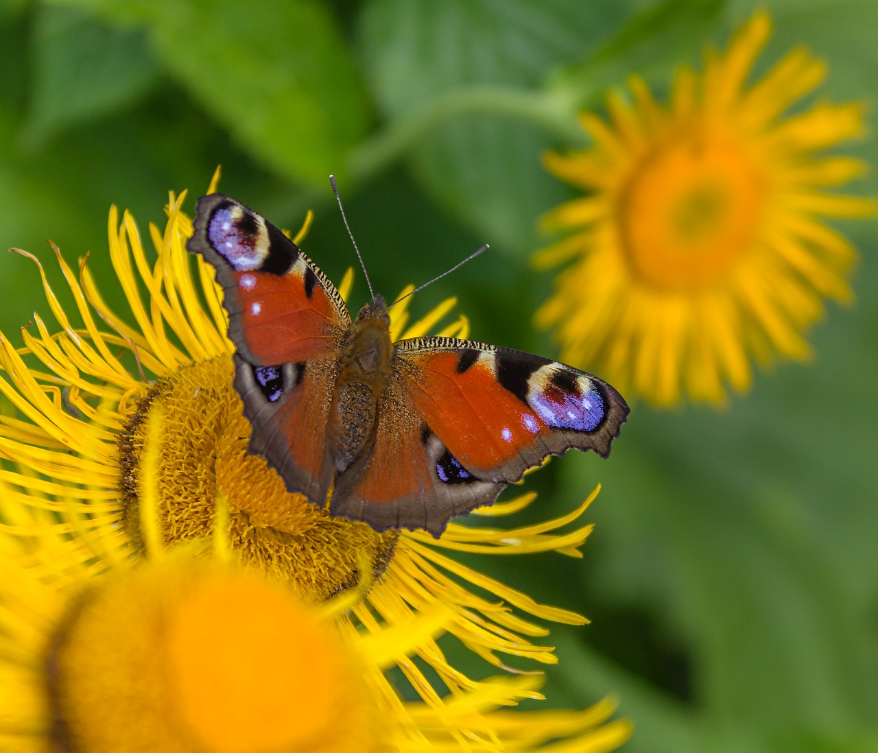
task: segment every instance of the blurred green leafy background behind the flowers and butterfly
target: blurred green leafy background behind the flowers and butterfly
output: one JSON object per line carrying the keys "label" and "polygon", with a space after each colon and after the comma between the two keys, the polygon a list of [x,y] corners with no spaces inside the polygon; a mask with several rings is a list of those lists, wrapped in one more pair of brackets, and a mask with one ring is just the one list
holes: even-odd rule
{"label": "blurred green leafy background behind the flowers and butterfly", "polygon": [[[796,44],[830,63],[817,98],[874,110],[878,2],[777,0],[765,70]],[[724,47],[748,2],[667,0],[116,0],[0,2],[0,245],[47,262],[47,238],[90,267],[111,305],[110,204],[163,225],[168,190],[220,190],[276,224],[316,212],[306,252],[336,281],[354,263],[338,177],[378,290],[392,295],[491,251],[419,294],[455,295],[472,336],[543,355],[531,317],[551,290],[529,255],[535,219],[572,193],[547,148],[587,144],[579,107],[631,71],[663,94],[680,62]],[[846,149],[875,162],[876,142]],[[853,186],[874,194],[874,178]],[[635,403],[604,462],[567,455],[529,477],[530,514],[572,508],[600,481],[583,560],[473,559],[543,602],[551,706],[605,694],[636,751],[878,750],[878,259],[858,302],[830,306],[810,366],[783,363],[723,411]],[[365,298],[362,281],[356,300]],[[0,256],[0,328],[17,338],[39,276]],[[497,561],[500,560],[500,561]],[[486,668],[454,646],[475,675]],[[544,706],[544,705],[543,705]]]}

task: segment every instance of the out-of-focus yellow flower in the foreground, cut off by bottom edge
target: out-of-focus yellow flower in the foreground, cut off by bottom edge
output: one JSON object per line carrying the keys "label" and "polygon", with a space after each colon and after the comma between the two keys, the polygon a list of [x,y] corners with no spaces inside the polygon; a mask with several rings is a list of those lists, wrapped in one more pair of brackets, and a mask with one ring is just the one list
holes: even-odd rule
{"label": "out-of-focus yellow flower in the foreground, cut off by bottom edge", "polygon": [[[42,527],[53,547],[56,534]],[[92,541],[92,562],[54,546],[38,572],[0,536],[0,748],[439,753],[529,751],[558,738],[603,753],[630,735],[625,721],[604,723],[608,701],[580,712],[498,711],[533,697],[533,677],[404,702],[384,671],[442,631],[447,607],[358,633],[338,620],[356,593],[306,604],[234,563],[222,539],[213,549],[225,556],[198,556],[189,544],[112,565],[112,541],[104,551]]]}

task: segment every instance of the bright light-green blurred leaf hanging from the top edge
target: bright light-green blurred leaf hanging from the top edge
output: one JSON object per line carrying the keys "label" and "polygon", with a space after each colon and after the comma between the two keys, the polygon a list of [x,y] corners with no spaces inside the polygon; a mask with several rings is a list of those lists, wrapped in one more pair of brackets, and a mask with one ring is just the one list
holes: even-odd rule
{"label": "bright light-green blurred leaf hanging from the top edge", "polygon": [[85,4],[146,25],[160,60],[192,96],[250,154],[286,176],[324,185],[365,133],[363,85],[325,4]]}

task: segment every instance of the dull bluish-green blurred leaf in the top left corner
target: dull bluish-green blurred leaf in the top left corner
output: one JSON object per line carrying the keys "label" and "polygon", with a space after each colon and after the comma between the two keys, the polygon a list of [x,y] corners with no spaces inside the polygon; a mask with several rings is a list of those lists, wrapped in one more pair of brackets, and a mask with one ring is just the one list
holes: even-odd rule
{"label": "dull bluish-green blurred leaf in the top left corner", "polygon": [[159,67],[140,29],[98,22],[76,8],[40,6],[33,33],[33,83],[22,145],[120,111],[143,97]]}

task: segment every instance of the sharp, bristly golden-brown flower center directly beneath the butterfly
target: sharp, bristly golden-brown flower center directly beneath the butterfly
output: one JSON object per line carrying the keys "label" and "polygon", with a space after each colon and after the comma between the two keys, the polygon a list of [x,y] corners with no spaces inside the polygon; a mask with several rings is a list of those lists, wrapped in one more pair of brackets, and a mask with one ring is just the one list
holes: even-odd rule
{"label": "sharp, bristly golden-brown flower center directly beneath the butterfly", "polygon": [[232,386],[231,356],[193,363],[160,380],[140,401],[119,441],[126,530],[142,545],[139,463],[148,415],[161,406],[164,426],[156,483],[157,513],[168,543],[212,536],[217,499],[229,511],[227,538],[249,564],[282,577],[304,599],[327,599],[360,582],[365,555],[373,577],[393,556],[399,534],[335,518],[248,453],[250,425]]}

